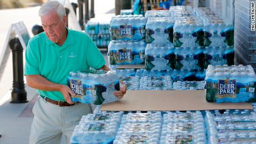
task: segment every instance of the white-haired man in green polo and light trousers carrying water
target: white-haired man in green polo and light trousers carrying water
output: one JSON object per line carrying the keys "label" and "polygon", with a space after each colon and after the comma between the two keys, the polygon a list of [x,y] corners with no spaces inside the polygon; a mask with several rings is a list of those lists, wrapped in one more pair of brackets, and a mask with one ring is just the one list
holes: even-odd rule
{"label": "white-haired man in green polo and light trousers carrying water", "polygon": [[[40,8],[39,16],[45,32],[31,38],[26,49],[24,74],[27,85],[40,95],[33,107],[35,115],[30,143],[60,143],[62,133],[70,143],[72,132],[83,115],[91,113],[88,105],[74,103],[75,95],[67,86],[70,71],[104,69],[105,60],[86,33],[66,28],[65,8],[57,1],[49,1]],[[126,86],[115,91],[122,98]]]}

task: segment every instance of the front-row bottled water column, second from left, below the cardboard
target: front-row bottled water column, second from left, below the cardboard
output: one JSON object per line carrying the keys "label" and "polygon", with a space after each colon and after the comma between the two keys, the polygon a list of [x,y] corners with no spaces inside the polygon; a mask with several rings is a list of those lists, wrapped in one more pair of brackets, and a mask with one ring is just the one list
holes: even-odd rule
{"label": "front-row bottled water column, second from left, below the cardboard", "polygon": [[114,143],[159,143],[161,112],[127,113]]}

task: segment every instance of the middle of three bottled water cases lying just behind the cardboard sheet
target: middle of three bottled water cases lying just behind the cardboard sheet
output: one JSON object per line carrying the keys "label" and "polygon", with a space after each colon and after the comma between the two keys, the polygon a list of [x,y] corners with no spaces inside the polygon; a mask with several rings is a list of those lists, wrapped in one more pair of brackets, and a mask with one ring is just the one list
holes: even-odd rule
{"label": "middle of three bottled water cases lying just behind the cardboard sheet", "polygon": [[140,90],[171,90],[171,76],[144,76],[140,78]]}

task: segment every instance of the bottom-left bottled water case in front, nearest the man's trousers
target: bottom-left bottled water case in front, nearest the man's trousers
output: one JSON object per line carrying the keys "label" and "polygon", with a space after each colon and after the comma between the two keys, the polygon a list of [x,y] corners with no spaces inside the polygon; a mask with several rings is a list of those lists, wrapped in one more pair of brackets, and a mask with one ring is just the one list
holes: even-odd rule
{"label": "bottom-left bottled water case in front, nearest the man's trousers", "polygon": [[116,122],[82,122],[75,127],[71,143],[109,143],[115,139]]}

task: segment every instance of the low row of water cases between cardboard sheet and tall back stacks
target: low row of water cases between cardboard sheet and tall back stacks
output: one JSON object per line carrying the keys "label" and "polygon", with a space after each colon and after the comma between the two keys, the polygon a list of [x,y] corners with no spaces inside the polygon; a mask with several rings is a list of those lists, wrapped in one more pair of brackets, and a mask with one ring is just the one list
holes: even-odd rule
{"label": "low row of water cases between cardboard sheet and tall back stacks", "polygon": [[127,90],[202,90],[205,71],[116,69]]}

